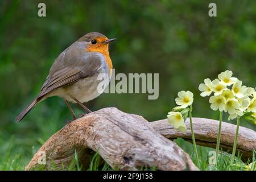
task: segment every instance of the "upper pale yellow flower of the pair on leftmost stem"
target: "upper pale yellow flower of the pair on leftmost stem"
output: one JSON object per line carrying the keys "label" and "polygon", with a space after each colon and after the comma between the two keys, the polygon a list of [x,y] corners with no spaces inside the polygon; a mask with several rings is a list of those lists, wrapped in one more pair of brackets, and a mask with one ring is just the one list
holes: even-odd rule
{"label": "upper pale yellow flower of the pair on leftmost stem", "polygon": [[179,105],[181,108],[186,108],[193,104],[193,93],[192,92],[185,92],[180,91],[177,93],[178,97],[175,99],[175,102],[177,105]]}

